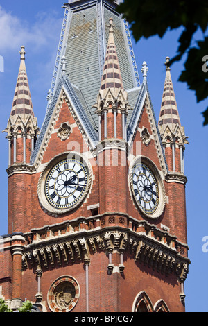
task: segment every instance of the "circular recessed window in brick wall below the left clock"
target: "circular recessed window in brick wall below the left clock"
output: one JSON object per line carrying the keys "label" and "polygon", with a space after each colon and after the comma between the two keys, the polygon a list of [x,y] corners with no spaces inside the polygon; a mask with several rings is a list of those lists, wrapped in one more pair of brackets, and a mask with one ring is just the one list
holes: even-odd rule
{"label": "circular recessed window in brick wall below the left clock", "polygon": [[73,277],[59,277],[49,289],[48,304],[53,312],[69,312],[76,306],[80,287]]}

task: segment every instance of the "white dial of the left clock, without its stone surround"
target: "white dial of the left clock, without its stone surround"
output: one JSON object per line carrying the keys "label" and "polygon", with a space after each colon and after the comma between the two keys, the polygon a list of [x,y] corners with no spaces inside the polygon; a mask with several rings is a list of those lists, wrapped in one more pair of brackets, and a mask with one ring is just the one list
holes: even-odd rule
{"label": "white dial of the left clock, without its stone surround", "polygon": [[89,182],[86,166],[67,158],[49,171],[45,181],[45,196],[55,209],[73,208],[83,200]]}

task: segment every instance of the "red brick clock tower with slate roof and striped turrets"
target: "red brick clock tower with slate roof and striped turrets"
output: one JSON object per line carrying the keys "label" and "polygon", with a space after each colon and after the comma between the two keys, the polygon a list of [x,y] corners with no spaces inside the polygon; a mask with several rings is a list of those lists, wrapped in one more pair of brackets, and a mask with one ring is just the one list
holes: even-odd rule
{"label": "red brick clock tower with slate roof and striped turrets", "polygon": [[[184,311],[184,148],[166,58],[159,122],[117,1],[70,0],[42,128],[21,63],[0,298],[43,312]],[[28,58],[29,60],[29,58]],[[170,295],[171,293],[171,295]]]}

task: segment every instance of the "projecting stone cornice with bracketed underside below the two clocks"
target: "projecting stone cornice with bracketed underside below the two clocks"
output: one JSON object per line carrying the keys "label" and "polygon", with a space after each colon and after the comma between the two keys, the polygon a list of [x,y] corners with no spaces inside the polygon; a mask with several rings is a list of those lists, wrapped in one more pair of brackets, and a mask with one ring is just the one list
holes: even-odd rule
{"label": "projecting stone cornice with bracketed underside below the two clocks", "polygon": [[120,225],[115,225],[116,217],[119,216],[107,214],[103,223],[104,215],[92,216],[31,230],[24,234],[28,243],[23,256],[24,268],[38,264],[48,269],[63,261],[73,264],[90,260],[89,252],[99,248],[104,252],[129,252],[135,261],[165,275],[175,273],[179,280],[187,277],[190,264],[187,244],[146,221],[129,218],[127,227],[123,226],[125,216],[120,216]]}

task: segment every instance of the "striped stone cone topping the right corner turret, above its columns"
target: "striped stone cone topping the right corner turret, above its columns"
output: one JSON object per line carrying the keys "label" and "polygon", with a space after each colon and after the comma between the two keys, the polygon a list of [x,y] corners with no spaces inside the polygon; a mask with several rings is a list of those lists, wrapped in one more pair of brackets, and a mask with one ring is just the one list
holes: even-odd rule
{"label": "striped stone cone topping the right corner turret, above its columns", "polygon": [[171,69],[169,67],[170,58],[166,57],[166,78],[164,83],[164,91],[162,96],[162,105],[159,114],[159,126],[164,124],[179,124],[180,117],[177,110],[177,103],[173,90],[173,83],[171,79]]}

